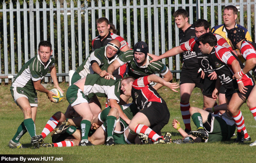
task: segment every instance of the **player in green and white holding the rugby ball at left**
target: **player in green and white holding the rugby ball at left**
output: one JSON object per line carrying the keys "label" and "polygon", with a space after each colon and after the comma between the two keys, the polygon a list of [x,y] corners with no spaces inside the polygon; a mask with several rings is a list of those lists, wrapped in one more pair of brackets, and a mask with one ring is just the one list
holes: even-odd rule
{"label": "player in green and white holding the rugby ball at left", "polygon": [[[51,102],[54,101],[52,96],[57,96],[41,84],[49,70],[54,87],[61,90],[57,80],[54,58],[52,57],[52,44],[48,41],[41,41],[38,46],[38,54],[25,63],[11,84],[11,95],[14,102],[23,111],[24,121],[18,127],[13,139],[9,141],[10,148],[24,148],[20,143],[20,138],[27,131],[34,148],[39,148],[39,139],[41,138],[36,136],[34,123],[38,106],[36,90],[46,93]],[[63,90],[61,92],[63,93]]]}

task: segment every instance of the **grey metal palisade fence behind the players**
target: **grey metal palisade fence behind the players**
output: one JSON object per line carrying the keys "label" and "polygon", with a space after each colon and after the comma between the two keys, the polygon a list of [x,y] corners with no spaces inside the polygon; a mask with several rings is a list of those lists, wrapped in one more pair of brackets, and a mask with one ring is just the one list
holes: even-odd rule
{"label": "grey metal palisade fence behind the players", "polygon": [[[92,52],[91,41],[97,36],[95,21],[102,16],[118,27],[118,35],[124,37],[129,44],[146,40],[150,53],[154,52],[156,55],[179,45],[179,29],[172,17],[172,13],[179,7],[189,12],[190,24],[193,24],[196,16],[201,15],[213,27],[222,24],[222,9],[232,4],[240,9],[239,24],[247,27],[250,34],[254,33],[252,38],[256,37],[256,0],[172,2],[36,0],[34,3],[29,0],[27,4],[24,0],[22,4],[19,1],[14,4],[12,1],[4,1],[2,9],[0,8],[0,76],[16,75],[23,64],[34,57],[40,40],[48,40],[52,42],[53,55],[57,55],[57,74],[59,81],[62,81],[61,76],[66,76],[71,69],[75,70]],[[197,10],[197,3],[200,10]],[[175,31],[175,34],[172,31]],[[133,44],[131,46],[133,47]],[[179,55],[162,61],[168,64],[170,70],[180,68]],[[179,73],[176,77],[179,79]],[[45,81],[48,82],[48,78]],[[8,82],[8,79],[5,79],[5,82]]]}

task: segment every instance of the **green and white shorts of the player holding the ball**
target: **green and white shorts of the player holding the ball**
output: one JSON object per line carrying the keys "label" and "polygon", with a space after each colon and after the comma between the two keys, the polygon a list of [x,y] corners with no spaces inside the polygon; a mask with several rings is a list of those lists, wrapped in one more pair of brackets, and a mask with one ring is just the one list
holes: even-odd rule
{"label": "green and white shorts of the player holding the ball", "polygon": [[26,97],[29,101],[30,106],[32,106],[32,107],[38,106],[36,90],[34,90],[34,92],[31,92],[25,88],[12,87],[12,86],[11,86],[10,90],[11,90],[11,96],[14,98],[15,103],[18,98]]}

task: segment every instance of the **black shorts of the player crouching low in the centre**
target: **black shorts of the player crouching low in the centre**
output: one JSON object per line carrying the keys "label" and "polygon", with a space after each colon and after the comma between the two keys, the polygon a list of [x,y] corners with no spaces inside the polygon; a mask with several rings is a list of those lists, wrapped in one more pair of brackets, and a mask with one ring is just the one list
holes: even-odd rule
{"label": "black shorts of the player crouching low in the centre", "polygon": [[143,113],[150,121],[150,128],[158,133],[169,122],[170,112],[165,103],[148,102],[139,112]]}

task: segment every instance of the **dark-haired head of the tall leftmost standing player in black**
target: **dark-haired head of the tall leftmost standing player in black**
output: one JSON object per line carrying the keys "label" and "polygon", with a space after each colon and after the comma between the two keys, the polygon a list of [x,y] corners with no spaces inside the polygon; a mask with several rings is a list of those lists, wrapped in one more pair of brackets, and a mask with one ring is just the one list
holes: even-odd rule
{"label": "dark-haired head of the tall leftmost standing player in black", "polygon": [[173,17],[177,27],[180,29],[183,29],[186,23],[188,23],[188,11],[186,11],[185,9],[178,9],[173,13]]}

